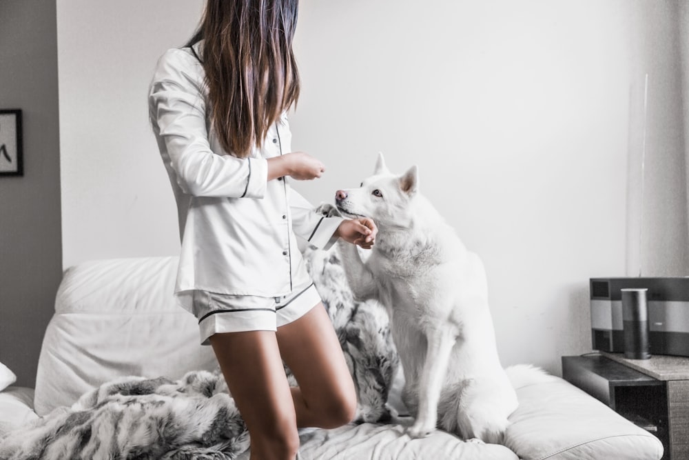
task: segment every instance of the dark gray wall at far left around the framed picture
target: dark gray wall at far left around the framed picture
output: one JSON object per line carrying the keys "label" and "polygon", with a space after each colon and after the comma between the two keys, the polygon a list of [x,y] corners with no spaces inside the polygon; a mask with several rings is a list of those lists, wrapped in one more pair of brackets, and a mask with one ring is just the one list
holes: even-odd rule
{"label": "dark gray wall at far left around the framed picture", "polygon": [[34,386],[62,274],[54,1],[0,1],[0,108],[23,111],[24,153],[0,177],[0,362]]}

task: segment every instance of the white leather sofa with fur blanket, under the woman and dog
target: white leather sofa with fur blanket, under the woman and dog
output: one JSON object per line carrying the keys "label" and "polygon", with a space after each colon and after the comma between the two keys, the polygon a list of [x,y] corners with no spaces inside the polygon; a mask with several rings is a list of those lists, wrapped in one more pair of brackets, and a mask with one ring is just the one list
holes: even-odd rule
{"label": "white leather sofa with fur blanket, under the woman and dog", "polygon": [[[385,330],[384,315],[376,306],[347,305],[352,301],[346,292],[340,292],[336,254],[316,252],[305,257],[309,269],[316,274],[314,281],[324,301],[332,310],[336,329],[351,327],[357,321],[360,327],[372,325],[367,331],[371,337],[377,334],[378,341],[367,341],[356,350],[343,343],[343,350],[350,366],[361,366],[359,374],[364,368],[371,368],[370,362],[364,362],[367,359],[380,361],[371,372],[379,372],[385,384],[376,387],[367,381],[358,383],[358,421],[333,430],[300,430],[300,459],[662,457],[662,445],[652,434],[558,377],[517,388],[520,407],[510,418],[503,444],[463,441],[440,430],[424,439],[411,439],[405,427],[412,419],[400,399],[402,374],[395,365],[389,337],[380,334]],[[90,261],[65,270],[56,294],[55,313],[43,339],[36,388],[9,386],[0,392],[0,458],[28,459],[31,452],[42,452],[39,457],[46,459],[112,458],[103,451],[85,448],[102,448],[106,438],[123,458],[249,458],[249,443],[241,432],[240,421],[227,415],[232,414],[232,399],[223,393],[221,381],[209,383],[214,376],[218,377],[212,350],[198,344],[194,317],[176,306],[172,297],[176,266],[176,257],[144,257]],[[357,314],[361,316],[357,318]],[[362,350],[368,353],[363,361]],[[528,357],[524,361],[528,362]],[[205,383],[194,383],[197,378]],[[130,384],[150,390],[133,391]],[[178,391],[179,386],[185,385],[194,386],[198,394]],[[137,404],[143,407],[141,401],[145,398],[158,408],[178,410],[182,424],[179,432],[183,435],[168,436],[172,441],[168,439],[171,444],[165,446],[158,442],[162,438],[155,436],[150,437],[148,445],[127,445],[136,437],[124,419],[107,425],[107,416],[95,418],[94,408],[105,407],[104,401],[110,397],[119,398],[115,401],[118,410]],[[186,399],[192,397],[197,399]],[[183,424],[189,423],[190,417],[185,415],[190,413],[188,408],[198,407],[206,399],[226,406],[222,412],[224,431],[214,432],[221,432],[222,437],[223,432],[236,430],[234,437],[220,442],[209,437],[209,431],[199,431],[198,437],[194,437],[190,434],[193,427],[185,428]],[[215,419],[204,422],[208,426],[212,426],[213,420],[218,423],[221,412],[214,413]],[[72,426],[65,426],[68,420]],[[144,426],[143,420],[138,420],[141,430],[164,432],[159,425]],[[198,426],[196,429],[200,430]],[[67,437],[70,428],[76,433],[71,441]],[[130,432],[125,428],[130,428]],[[51,450],[56,439],[61,438],[68,447],[63,446],[60,452],[70,452],[64,457]]]}

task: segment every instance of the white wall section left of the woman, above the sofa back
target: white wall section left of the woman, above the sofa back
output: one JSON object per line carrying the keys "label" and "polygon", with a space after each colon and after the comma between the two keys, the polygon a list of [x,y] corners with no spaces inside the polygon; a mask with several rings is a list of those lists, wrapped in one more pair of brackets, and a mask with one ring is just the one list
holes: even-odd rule
{"label": "white wall section left of the woman, above the sofa back", "polygon": [[202,6],[57,1],[65,268],[176,252],[176,207],[147,91],[158,57],[183,46]]}

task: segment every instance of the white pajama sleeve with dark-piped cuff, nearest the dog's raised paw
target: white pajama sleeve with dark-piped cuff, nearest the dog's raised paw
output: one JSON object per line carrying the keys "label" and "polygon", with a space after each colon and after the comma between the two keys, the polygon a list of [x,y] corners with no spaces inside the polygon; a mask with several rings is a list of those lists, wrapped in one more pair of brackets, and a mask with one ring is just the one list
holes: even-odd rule
{"label": "white pajama sleeve with dark-piped cuff, nearest the dog's raised paw", "polygon": [[338,241],[335,231],[345,219],[318,214],[311,203],[294,188],[289,189],[289,210],[292,215],[292,230],[313,246],[328,250]]}

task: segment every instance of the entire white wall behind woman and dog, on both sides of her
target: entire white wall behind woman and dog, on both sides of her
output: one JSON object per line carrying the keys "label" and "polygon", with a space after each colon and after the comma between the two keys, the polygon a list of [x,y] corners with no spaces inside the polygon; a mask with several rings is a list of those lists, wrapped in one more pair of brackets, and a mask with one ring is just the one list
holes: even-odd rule
{"label": "entire white wall behind woman and dog, on both sides of her", "polygon": [[[145,90],[200,6],[58,0],[65,266],[176,252]],[[588,278],[624,275],[637,259],[645,274],[687,272],[676,10],[677,0],[302,1],[293,147],[328,171],[300,190],[331,201],[379,150],[393,170],[418,164],[422,191],[486,263],[503,362],[559,372],[562,354],[590,349]],[[654,88],[644,219],[633,183],[640,70]],[[628,221],[648,226],[645,241]]]}

